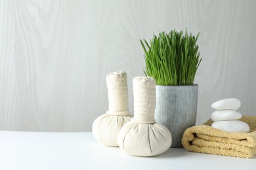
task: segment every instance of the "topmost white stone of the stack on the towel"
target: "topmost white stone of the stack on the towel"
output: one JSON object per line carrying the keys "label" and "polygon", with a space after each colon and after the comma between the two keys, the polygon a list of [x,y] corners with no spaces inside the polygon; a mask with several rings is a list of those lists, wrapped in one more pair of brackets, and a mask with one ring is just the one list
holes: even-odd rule
{"label": "topmost white stone of the stack on the towel", "polygon": [[215,110],[237,110],[240,106],[241,102],[236,98],[222,99],[211,104],[211,108]]}

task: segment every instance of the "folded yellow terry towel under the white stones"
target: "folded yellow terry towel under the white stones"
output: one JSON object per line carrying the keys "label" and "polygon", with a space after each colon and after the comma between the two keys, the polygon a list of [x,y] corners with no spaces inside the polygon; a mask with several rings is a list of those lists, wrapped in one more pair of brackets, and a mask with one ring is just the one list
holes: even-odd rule
{"label": "folded yellow terry towel under the white stones", "polygon": [[249,133],[226,132],[211,127],[213,121],[186,129],[182,145],[191,152],[252,158],[256,154],[256,116],[242,116]]}

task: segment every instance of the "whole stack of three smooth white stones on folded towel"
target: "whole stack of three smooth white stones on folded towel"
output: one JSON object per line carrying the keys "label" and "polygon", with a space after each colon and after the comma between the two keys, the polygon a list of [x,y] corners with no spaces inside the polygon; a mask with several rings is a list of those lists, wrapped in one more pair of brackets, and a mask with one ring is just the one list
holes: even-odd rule
{"label": "whole stack of three smooth white stones on folded towel", "polygon": [[237,112],[241,106],[238,99],[222,99],[211,105],[215,112],[211,114],[213,124],[211,127],[229,132],[249,132],[249,126],[238,119],[242,118],[242,114]]}

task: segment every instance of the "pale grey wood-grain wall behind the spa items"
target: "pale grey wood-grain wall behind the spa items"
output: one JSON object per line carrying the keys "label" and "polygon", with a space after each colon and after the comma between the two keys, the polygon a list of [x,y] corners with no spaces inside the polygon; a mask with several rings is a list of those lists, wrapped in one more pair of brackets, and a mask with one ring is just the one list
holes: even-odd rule
{"label": "pale grey wood-grain wall behind the spa items", "polygon": [[91,131],[108,110],[106,75],[143,75],[139,39],[200,32],[197,124],[238,97],[256,116],[256,1],[0,0],[0,129]]}

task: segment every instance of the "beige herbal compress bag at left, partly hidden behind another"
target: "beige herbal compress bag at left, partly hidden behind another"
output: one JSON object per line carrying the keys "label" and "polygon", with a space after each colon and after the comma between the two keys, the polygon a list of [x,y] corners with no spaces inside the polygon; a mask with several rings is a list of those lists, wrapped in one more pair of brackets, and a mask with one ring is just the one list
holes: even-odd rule
{"label": "beige herbal compress bag at left, partly hidden behind another", "polygon": [[117,71],[106,77],[109,110],[93,122],[93,135],[100,143],[118,146],[117,135],[132,118],[128,111],[127,75]]}

